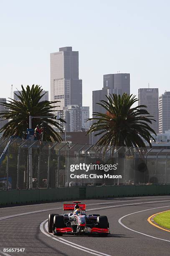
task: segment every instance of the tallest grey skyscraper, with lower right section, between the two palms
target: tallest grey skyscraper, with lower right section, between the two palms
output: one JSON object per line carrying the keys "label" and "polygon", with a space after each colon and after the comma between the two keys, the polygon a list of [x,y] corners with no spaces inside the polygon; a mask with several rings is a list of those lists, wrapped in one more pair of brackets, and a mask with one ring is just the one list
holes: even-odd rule
{"label": "tallest grey skyscraper, with lower right section, between the two palms", "polygon": [[50,54],[51,101],[59,100],[60,109],[68,105],[82,106],[82,80],[79,79],[79,52],[72,47],[59,48]]}

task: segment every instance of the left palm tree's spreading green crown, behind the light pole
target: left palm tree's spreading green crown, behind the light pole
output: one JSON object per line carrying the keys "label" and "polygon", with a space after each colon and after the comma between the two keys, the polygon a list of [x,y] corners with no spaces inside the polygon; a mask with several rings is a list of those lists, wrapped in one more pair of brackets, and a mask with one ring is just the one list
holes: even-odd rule
{"label": "left palm tree's spreading green crown, behind the light pole", "polygon": [[[27,85],[24,89],[23,85],[22,91],[18,94],[19,101],[13,100],[10,98],[8,102],[1,103],[6,109],[0,113],[2,120],[9,120],[7,124],[0,129],[0,132],[3,132],[3,136],[10,137],[12,135],[17,135],[22,138],[23,132],[26,132],[29,128],[29,116],[45,116],[48,118],[33,118],[32,127],[36,128],[36,125],[43,123],[44,126],[44,141],[62,141],[61,136],[53,129],[57,128],[59,131],[62,131],[62,125],[53,119],[52,112],[54,111],[53,103],[58,101],[41,101],[41,98],[45,93],[41,94],[43,89],[39,85],[32,85],[30,87]],[[59,106],[58,106],[59,107]],[[61,119],[61,122],[65,122]]]}

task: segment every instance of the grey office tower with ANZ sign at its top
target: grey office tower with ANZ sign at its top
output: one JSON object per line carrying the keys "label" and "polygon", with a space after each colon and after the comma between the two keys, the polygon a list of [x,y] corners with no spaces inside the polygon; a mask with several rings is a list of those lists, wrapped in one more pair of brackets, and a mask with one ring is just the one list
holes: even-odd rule
{"label": "grey office tower with ANZ sign at its top", "polygon": [[156,122],[152,121],[152,125],[150,127],[158,133],[159,131],[159,90],[158,88],[140,88],[138,89],[138,105],[146,105],[147,111],[150,115],[153,115],[153,119]]}

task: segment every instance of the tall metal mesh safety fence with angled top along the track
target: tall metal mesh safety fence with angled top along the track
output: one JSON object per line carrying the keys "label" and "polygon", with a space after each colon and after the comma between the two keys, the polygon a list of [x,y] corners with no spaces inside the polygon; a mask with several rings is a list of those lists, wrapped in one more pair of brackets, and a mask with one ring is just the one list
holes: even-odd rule
{"label": "tall metal mesh safety fence with angled top along the track", "polygon": [[[83,164],[86,170],[80,172]],[[104,151],[95,145],[0,137],[0,190],[134,184],[170,184],[170,149]]]}

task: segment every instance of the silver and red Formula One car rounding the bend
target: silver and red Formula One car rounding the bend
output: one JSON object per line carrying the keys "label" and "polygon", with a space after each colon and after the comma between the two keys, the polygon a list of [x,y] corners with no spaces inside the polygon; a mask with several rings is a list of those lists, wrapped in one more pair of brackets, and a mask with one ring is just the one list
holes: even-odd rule
{"label": "silver and red Formula One car rounding the bend", "polygon": [[[72,210],[72,212],[64,214],[64,211],[68,210]],[[63,204],[63,215],[49,214],[48,232],[58,236],[68,233],[107,236],[109,234],[109,222],[107,216],[86,215],[86,205],[81,204],[81,202],[74,202],[73,204]]]}

